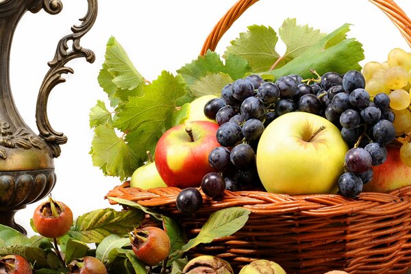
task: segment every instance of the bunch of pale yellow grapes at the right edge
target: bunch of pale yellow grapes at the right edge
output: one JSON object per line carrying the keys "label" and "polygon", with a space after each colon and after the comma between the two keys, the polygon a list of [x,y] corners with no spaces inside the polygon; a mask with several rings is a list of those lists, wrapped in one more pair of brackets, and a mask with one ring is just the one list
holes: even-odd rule
{"label": "bunch of pale yellow grapes at the right edge", "polygon": [[388,53],[387,61],[368,62],[364,65],[366,90],[371,95],[384,92],[390,98],[391,116],[395,134],[402,136],[403,143],[400,157],[404,164],[411,166],[411,54],[403,49],[393,49]]}

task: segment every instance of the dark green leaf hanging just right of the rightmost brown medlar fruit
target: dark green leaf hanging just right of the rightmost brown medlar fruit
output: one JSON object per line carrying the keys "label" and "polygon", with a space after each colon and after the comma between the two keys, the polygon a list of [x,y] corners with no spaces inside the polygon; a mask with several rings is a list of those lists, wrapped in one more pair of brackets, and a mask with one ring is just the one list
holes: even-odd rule
{"label": "dark green leaf hanging just right of the rightmost brown medlar fruit", "polygon": [[182,247],[186,244],[186,235],[184,230],[170,217],[162,216],[164,231],[170,238],[171,249],[169,255],[169,264],[182,256]]}

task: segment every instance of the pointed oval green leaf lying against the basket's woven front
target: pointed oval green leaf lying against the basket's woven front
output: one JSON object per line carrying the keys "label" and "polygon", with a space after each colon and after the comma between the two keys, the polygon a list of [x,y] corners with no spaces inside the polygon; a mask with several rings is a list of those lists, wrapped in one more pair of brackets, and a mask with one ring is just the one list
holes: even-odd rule
{"label": "pointed oval green leaf lying against the basket's woven front", "polygon": [[247,223],[251,212],[245,208],[225,208],[210,215],[201,227],[200,233],[182,247],[186,252],[201,243],[212,242],[215,238],[226,237],[237,232]]}

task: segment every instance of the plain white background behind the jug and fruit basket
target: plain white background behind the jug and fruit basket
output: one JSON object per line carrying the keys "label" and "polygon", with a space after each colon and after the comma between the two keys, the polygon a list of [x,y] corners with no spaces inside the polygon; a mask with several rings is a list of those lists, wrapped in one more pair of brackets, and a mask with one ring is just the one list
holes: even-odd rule
{"label": "plain white background behind the jug and fruit basket", "polygon": [[[396,2],[411,14],[410,0]],[[37,92],[47,72],[47,62],[53,59],[58,40],[69,34],[71,25],[78,24],[77,19],[86,14],[86,0],[63,0],[63,3],[63,11],[55,16],[44,11],[27,12],[14,36],[10,64],[12,91],[21,116],[35,132]],[[55,160],[58,180],[52,195],[70,206],[75,216],[108,207],[104,195],[121,184],[118,178],[103,176],[99,168],[92,166],[88,154],[93,135],[88,125],[89,110],[97,99],[107,101],[97,83],[97,75],[108,38],[115,36],[136,69],[152,80],[162,70],[175,73],[197,58],[212,27],[234,3],[235,0],[99,1],[95,26],[82,39],[83,47],[95,51],[95,63],[84,60],[69,63],[75,70],[74,75],[65,76],[67,82],[55,88],[49,99],[51,125],[69,137],[69,142],[62,146],[62,155]],[[358,38],[364,45],[365,61],[382,62],[394,47],[410,51],[388,17],[365,0],[260,1],[234,23],[216,51],[223,53],[229,41],[245,32],[249,25],[271,25],[278,29],[288,17],[322,32],[332,32],[343,23],[353,24],[349,36]],[[282,45],[277,49],[284,52]],[[29,219],[38,204],[40,201],[16,214],[16,221],[29,235],[34,234]]]}

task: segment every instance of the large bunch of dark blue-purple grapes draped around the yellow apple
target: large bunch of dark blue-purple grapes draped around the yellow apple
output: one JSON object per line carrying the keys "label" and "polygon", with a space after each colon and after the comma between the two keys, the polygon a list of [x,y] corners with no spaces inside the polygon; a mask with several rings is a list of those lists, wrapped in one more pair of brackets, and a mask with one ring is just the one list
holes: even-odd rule
{"label": "large bunch of dark blue-purple grapes draped around the yellow apple", "polygon": [[[323,116],[340,129],[351,149],[345,154],[346,172],[339,177],[338,187],[341,195],[358,196],[362,185],[373,177],[372,166],[386,160],[384,145],[395,138],[390,97],[379,93],[370,101],[364,87],[365,79],[358,71],[349,71],[345,75],[329,72],[317,79],[306,80],[299,75],[288,75],[275,83],[250,75],[228,84],[221,91],[221,98],[210,100],[204,107],[206,116],[216,119],[220,125],[216,139],[221,147],[216,147],[209,155],[210,165],[219,173],[208,173],[203,177],[203,192],[209,197],[219,197],[224,186],[238,190],[241,186],[256,184],[260,179],[270,191],[269,182],[264,181],[266,179],[260,175],[256,164],[264,129],[277,117],[289,116],[289,112],[308,112]],[[318,127],[304,141],[311,142],[325,125]],[[262,162],[264,160],[267,159]],[[325,169],[325,172],[328,171]]]}

